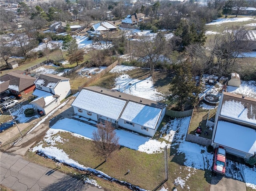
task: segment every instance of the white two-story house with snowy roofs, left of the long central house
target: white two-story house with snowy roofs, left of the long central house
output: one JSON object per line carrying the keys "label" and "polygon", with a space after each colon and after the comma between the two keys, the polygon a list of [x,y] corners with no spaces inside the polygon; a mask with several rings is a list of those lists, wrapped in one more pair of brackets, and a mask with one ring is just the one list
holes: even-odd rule
{"label": "white two-story house with snowy roofs, left of the long central house", "polygon": [[44,114],[59,106],[60,101],[71,94],[69,79],[61,76],[41,74],[34,84],[36,89],[33,95],[37,97],[30,104]]}

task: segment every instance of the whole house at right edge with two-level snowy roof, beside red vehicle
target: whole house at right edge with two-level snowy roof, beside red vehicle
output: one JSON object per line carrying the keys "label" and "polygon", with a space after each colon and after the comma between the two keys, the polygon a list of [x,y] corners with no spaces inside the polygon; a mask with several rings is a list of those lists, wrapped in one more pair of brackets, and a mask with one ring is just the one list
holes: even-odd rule
{"label": "whole house at right edge with two-level snowy roof, beside red vehicle", "polygon": [[223,92],[215,116],[212,146],[250,158],[256,155],[256,99]]}

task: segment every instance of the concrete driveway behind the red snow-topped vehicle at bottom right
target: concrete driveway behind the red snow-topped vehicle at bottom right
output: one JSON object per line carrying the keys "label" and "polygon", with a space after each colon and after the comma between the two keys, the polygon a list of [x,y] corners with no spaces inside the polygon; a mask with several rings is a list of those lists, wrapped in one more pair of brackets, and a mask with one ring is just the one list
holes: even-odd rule
{"label": "concrete driveway behind the red snow-topped vehicle at bottom right", "polygon": [[216,175],[212,177],[210,191],[246,191],[246,185],[242,181]]}

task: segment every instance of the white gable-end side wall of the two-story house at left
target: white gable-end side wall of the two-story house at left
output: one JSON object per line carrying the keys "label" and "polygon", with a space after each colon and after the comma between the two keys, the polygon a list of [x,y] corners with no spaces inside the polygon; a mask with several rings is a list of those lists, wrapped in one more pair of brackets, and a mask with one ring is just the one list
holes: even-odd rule
{"label": "white gable-end side wall of the two-story house at left", "polygon": [[[48,92],[50,92],[48,88]],[[59,95],[60,100],[63,100],[66,96],[71,94],[69,80],[60,81],[54,89],[52,89],[54,95]]]}

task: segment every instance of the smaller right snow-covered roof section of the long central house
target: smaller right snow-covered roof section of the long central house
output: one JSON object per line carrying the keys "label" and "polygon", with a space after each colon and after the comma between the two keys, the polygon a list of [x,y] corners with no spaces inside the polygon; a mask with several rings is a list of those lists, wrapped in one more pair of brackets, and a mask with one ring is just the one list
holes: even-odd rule
{"label": "smaller right snow-covered roof section of the long central house", "polygon": [[162,110],[159,108],[129,101],[120,118],[141,126],[155,129],[161,111]]}

